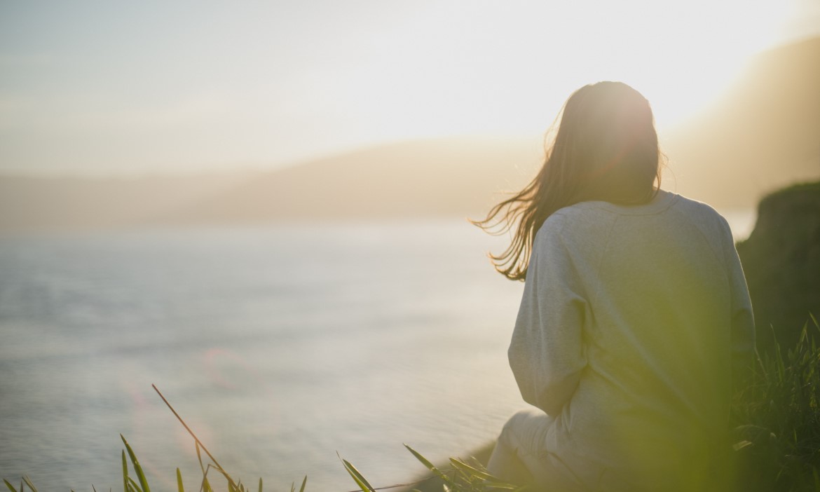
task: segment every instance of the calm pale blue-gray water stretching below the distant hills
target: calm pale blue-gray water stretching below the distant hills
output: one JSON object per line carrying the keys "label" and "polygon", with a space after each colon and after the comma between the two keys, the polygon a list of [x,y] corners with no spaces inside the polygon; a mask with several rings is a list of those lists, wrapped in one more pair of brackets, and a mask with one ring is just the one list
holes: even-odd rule
{"label": "calm pale blue-gray water stretching below the distant hills", "polygon": [[[738,235],[750,214],[727,218]],[[522,285],[464,222],[0,239],[0,476],[116,488],[122,433],[157,490],[193,440],[248,484],[353,490],[494,439],[523,403],[506,348]]]}

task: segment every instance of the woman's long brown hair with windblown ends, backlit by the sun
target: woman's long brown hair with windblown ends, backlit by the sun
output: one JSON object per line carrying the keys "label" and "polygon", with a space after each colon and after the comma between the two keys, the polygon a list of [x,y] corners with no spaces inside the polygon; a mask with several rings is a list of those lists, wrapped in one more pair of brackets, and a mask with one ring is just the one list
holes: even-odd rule
{"label": "woman's long brown hair with windblown ends, backlit by the sun", "polygon": [[629,85],[581,87],[564,103],[555,126],[538,175],[473,222],[494,235],[514,228],[508,248],[490,255],[495,270],[510,280],[526,279],[535,233],[559,208],[588,200],[646,203],[660,187],[663,154],[652,109]]}

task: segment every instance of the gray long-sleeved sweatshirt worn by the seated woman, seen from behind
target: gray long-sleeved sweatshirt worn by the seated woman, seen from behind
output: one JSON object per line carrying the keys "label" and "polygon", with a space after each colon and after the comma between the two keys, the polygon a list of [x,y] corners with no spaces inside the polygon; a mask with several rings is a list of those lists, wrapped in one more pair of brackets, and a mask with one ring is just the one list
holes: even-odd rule
{"label": "gray long-sleeved sweatshirt worn by the seated woman, seen from behind", "polygon": [[526,402],[554,417],[545,458],[572,483],[714,483],[733,373],[753,354],[731,231],[704,203],[577,203],[535,236],[509,362]]}

